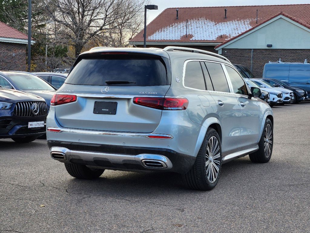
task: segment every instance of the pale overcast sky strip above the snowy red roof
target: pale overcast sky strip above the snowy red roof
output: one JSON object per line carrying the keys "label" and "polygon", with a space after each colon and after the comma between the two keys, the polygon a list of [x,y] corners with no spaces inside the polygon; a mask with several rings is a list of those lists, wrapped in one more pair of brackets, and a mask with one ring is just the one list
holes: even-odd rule
{"label": "pale overcast sky strip above the snowy red roof", "polygon": [[[160,12],[169,7],[215,7],[215,6],[244,6],[244,5],[280,5],[280,4],[304,4],[303,0],[150,0],[150,4],[158,6],[158,10],[148,10],[148,23]],[[309,12],[310,14],[310,12]]]}

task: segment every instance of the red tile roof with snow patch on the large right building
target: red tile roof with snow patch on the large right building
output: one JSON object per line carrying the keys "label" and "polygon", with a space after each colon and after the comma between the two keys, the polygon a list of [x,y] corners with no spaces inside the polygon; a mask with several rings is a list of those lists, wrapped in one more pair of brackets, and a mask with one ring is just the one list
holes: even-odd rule
{"label": "red tile roof with snow patch on the large right building", "polygon": [[[179,9],[179,19],[176,19]],[[227,18],[224,17],[227,9]],[[258,20],[256,23],[256,10]],[[148,42],[223,43],[283,12],[310,24],[310,4],[167,8],[147,26]],[[143,30],[131,42],[143,42]]]}

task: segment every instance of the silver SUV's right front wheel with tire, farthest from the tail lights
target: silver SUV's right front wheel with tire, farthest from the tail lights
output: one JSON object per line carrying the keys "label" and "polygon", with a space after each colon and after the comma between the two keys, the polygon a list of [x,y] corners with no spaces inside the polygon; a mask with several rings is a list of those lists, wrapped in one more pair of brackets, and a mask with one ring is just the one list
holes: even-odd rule
{"label": "silver SUV's right front wheel with tire, farthest from the tail lights", "polygon": [[270,119],[268,118],[266,119],[264,131],[262,137],[259,140],[258,146],[258,151],[249,154],[250,160],[252,162],[260,163],[269,162],[273,148],[273,126]]}

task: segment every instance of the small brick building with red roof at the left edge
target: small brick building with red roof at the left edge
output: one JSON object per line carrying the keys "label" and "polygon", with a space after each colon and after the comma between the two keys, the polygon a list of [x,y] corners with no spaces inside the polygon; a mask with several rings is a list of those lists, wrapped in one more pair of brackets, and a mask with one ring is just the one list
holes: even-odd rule
{"label": "small brick building with red roof at the left edge", "polygon": [[26,34],[0,22],[0,70],[25,71],[27,44]]}

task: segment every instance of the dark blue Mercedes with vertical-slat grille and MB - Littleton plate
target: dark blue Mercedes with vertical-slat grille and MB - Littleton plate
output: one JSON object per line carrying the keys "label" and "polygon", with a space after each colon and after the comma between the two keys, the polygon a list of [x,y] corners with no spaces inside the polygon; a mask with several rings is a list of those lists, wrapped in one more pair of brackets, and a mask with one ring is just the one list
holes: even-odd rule
{"label": "dark blue Mercedes with vertical-slat grille and MB - Littleton plate", "polygon": [[0,138],[32,142],[46,132],[47,104],[25,92],[0,88]]}

